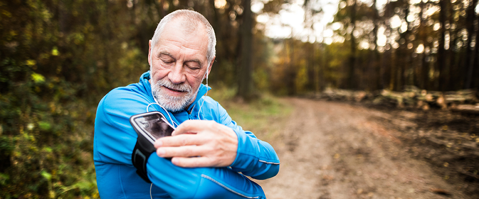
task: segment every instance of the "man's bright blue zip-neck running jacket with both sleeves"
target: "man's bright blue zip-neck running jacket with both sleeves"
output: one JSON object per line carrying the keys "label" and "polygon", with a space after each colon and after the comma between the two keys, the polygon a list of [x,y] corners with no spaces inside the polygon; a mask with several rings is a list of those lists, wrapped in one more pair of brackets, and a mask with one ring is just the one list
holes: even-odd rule
{"label": "man's bright blue zip-neck running jacket with both sleeves", "polygon": [[[154,153],[147,163],[148,178],[153,184],[136,174],[131,154],[138,135],[129,118],[147,112],[147,105],[155,102],[149,79],[150,73],[146,72],[139,83],[113,89],[98,104],[93,159],[100,198],[147,199],[151,191],[154,199],[265,199],[261,187],[245,176],[259,180],[275,176],[279,171],[276,152],[238,126],[217,101],[203,97],[210,89],[205,85],[200,86],[188,110],[170,115],[177,124],[198,119],[204,102],[200,119],[227,125],[238,135],[238,153],[233,164],[222,168],[182,168]],[[148,111],[154,110],[168,117],[160,106],[150,105]]]}

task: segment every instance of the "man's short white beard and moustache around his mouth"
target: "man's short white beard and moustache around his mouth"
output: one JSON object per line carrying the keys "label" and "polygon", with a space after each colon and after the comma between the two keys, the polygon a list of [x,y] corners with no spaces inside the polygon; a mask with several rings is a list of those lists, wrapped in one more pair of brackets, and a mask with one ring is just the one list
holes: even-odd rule
{"label": "man's short white beard and moustache around his mouth", "polygon": [[[183,97],[169,96],[160,90],[161,87],[187,92],[187,94]],[[160,103],[161,106],[170,112],[177,112],[186,108],[191,102],[193,102],[193,100],[196,99],[196,95],[198,94],[198,90],[193,92],[193,89],[190,85],[186,83],[175,85],[166,78],[161,79],[156,83],[154,83],[152,80],[151,91],[153,97],[158,101],[158,103]]]}

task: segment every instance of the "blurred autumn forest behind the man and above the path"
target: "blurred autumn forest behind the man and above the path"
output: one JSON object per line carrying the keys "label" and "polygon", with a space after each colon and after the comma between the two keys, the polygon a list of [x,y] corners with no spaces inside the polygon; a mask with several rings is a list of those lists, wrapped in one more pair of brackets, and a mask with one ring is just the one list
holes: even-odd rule
{"label": "blurred autumn forest behind the man and above the path", "polygon": [[[275,20],[293,5],[301,31]],[[210,21],[210,85],[245,101],[479,88],[478,0],[0,0],[1,199],[99,198],[96,106],[149,70],[148,41],[177,9]]]}

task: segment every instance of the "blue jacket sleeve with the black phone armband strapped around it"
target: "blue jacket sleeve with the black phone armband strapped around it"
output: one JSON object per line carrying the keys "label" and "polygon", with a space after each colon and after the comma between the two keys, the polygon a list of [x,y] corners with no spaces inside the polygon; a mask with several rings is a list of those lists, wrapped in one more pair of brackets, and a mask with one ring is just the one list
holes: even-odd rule
{"label": "blue jacket sleeve with the black phone armband strapped around it", "polygon": [[[100,101],[95,120],[95,164],[125,164],[136,170],[131,153],[138,135],[129,118],[145,112],[148,102],[132,98],[136,97],[111,92]],[[227,167],[181,168],[152,153],[147,171],[152,183],[173,199],[265,199],[259,185]]]}

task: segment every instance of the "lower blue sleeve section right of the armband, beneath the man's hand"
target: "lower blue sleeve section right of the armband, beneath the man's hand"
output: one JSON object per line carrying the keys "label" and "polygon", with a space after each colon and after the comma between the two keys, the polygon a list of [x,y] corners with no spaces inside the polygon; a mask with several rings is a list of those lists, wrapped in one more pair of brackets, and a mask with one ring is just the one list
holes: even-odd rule
{"label": "lower blue sleeve section right of the armband, beneath the man's hand", "polygon": [[148,177],[173,199],[265,199],[261,187],[229,168],[182,168],[152,154]]}

